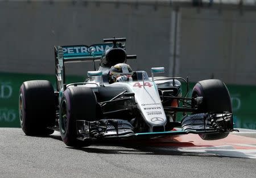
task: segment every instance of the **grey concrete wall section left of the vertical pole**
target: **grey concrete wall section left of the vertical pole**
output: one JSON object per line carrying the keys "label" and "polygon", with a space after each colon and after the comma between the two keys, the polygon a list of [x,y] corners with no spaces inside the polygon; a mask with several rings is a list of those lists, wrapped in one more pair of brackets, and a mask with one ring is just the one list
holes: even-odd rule
{"label": "grey concrete wall section left of the vertical pole", "polygon": [[[170,15],[169,6],[0,1],[0,72],[53,74],[53,45],[90,45],[113,36],[126,37],[127,52],[138,55],[129,62],[134,70],[150,71],[168,59]],[[92,67],[68,64],[67,72],[85,75]]]}

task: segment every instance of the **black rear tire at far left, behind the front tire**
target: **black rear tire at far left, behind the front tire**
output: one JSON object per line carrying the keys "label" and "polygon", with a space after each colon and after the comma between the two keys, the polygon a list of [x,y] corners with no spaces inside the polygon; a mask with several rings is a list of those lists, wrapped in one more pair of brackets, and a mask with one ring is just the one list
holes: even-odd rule
{"label": "black rear tire at far left, behind the front tire", "polygon": [[47,136],[47,129],[56,121],[55,94],[51,82],[32,80],[23,82],[19,91],[20,126],[26,135]]}

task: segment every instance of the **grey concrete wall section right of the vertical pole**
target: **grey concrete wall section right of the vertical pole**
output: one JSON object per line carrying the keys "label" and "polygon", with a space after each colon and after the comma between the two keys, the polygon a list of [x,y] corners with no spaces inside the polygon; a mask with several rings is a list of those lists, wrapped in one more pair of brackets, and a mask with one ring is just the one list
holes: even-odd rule
{"label": "grey concrete wall section right of the vertical pole", "polygon": [[181,76],[256,85],[256,12],[181,9]]}

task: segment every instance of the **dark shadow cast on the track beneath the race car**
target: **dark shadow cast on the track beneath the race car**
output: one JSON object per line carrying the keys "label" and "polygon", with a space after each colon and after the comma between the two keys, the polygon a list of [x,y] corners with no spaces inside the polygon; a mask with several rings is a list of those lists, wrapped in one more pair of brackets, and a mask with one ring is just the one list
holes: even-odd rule
{"label": "dark shadow cast on the track beneath the race car", "polygon": [[[49,135],[50,138],[60,140],[58,134]],[[162,139],[141,139],[141,140],[94,140],[89,147],[74,148],[67,147],[72,150],[80,150],[88,153],[96,154],[133,154],[133,155],[177,155],[177,156],[212,156],[218,158],[247,158],[247,155],[236,150],[214,150],[212,146],[201,146],[205,149],[200,151],[200,147],[196,147],[192,142],[177,142],[174,138],[170,142],[163,142]],[[209,148],[207,148],[209,147]],[[183,148],[188,148],[182,150]],[[192,151],[189,151],[189,148]]]}

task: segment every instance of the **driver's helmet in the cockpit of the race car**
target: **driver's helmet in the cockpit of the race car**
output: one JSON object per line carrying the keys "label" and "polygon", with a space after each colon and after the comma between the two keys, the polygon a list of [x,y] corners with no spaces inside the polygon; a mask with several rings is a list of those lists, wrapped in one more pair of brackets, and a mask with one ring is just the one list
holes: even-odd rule
{"label": "driver's helmet in the cockpit of the race car", "polygon": [[133,70],[131,69],[130,65],[125,63],[115,64],[110,68],[109,82],[116,82],[117,78],[120,76],[126,76],[127,78],[129,78],[132,74]]}

